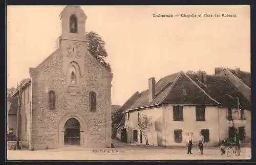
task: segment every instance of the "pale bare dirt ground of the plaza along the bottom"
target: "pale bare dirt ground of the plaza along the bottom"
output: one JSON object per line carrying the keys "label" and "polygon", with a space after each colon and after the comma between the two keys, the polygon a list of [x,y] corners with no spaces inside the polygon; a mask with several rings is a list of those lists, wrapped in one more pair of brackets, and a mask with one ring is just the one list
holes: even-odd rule
{"label": "pale bare dirt ground of the plaza along the bottom", "polygon": [[18,150],[8,151],[8,160],[212,160],[212,159],[250,159],[251,148],[243,147],[240,156],[221,156],[219,148],[206,148],[204,155],[194,148],[188,155],[186,148],[141,147],[117,145],[116,148],[89,149],[65,147],[51,150]]}

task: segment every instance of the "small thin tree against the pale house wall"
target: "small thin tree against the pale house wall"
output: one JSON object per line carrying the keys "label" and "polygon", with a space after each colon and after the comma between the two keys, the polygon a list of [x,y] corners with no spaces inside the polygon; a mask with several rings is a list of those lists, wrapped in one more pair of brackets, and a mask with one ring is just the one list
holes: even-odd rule
{"label": "small thin tree against the pale house wall", "polygon": [[151,117],[147,115],[143,115],[139,117],[138,126],[139,129],[142,130],[142,135],[145,137],[146,145],[148,145],[148,136],[147,133],[150,132],[150,128],[152,127],[153,123],[151,122]]}

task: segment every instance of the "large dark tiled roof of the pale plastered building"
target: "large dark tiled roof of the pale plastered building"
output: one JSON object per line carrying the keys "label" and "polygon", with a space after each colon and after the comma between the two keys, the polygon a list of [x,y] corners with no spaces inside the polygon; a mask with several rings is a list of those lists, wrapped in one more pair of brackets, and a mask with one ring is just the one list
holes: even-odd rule
{"label": "large dark tiled roof of the pale plastered building", "polygon": [[251,109],[250,103],[227,78],[207,75],[207,82],[203,84],[197,79],[197,74],[181,73],[176,82],[179,73],[160,79],[156,84],[156,97],[152,102],[148,102],[148,90],[143,91],[129,110],[157,104],[238,105],[237,97],[241,106]]}

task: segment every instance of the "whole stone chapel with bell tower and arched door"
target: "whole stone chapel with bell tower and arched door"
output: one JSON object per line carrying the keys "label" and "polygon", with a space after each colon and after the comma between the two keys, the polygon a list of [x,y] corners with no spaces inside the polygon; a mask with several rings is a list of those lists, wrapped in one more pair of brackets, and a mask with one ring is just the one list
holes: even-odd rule
{"label": "whole stone chapel with bell tower and arched door", "polygon": [[67,6],[60,16],[58,49],[29,68],[23,84],[20,139],[31,150],[111,147],[113,74],[87,50],[81,7]]}

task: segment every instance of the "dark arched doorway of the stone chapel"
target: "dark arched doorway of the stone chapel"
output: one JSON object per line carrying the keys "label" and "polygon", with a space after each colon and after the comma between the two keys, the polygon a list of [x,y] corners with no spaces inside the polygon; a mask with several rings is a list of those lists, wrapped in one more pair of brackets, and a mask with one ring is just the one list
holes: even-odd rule
{"label": "dark arched doorway of the stone chapel", "polygon": [[80,145],[80,123],[72,117],[65,123],[64,128],[64,144]]}

